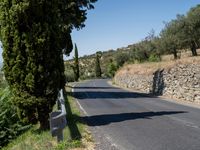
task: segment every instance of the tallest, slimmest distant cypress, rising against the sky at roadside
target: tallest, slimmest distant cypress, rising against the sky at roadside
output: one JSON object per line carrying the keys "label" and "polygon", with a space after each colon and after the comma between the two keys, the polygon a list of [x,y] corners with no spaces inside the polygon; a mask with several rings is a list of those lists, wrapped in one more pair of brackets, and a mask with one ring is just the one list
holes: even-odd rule
{"label": "tallest, slimmest distant cypress, rising against the sky at roadside", "polygon": [[78,60],[78,48],[75,44],[75,50],[74,50],[74,75],[75,75],[75,81],[78,81],[79,79],[79,60]]}

